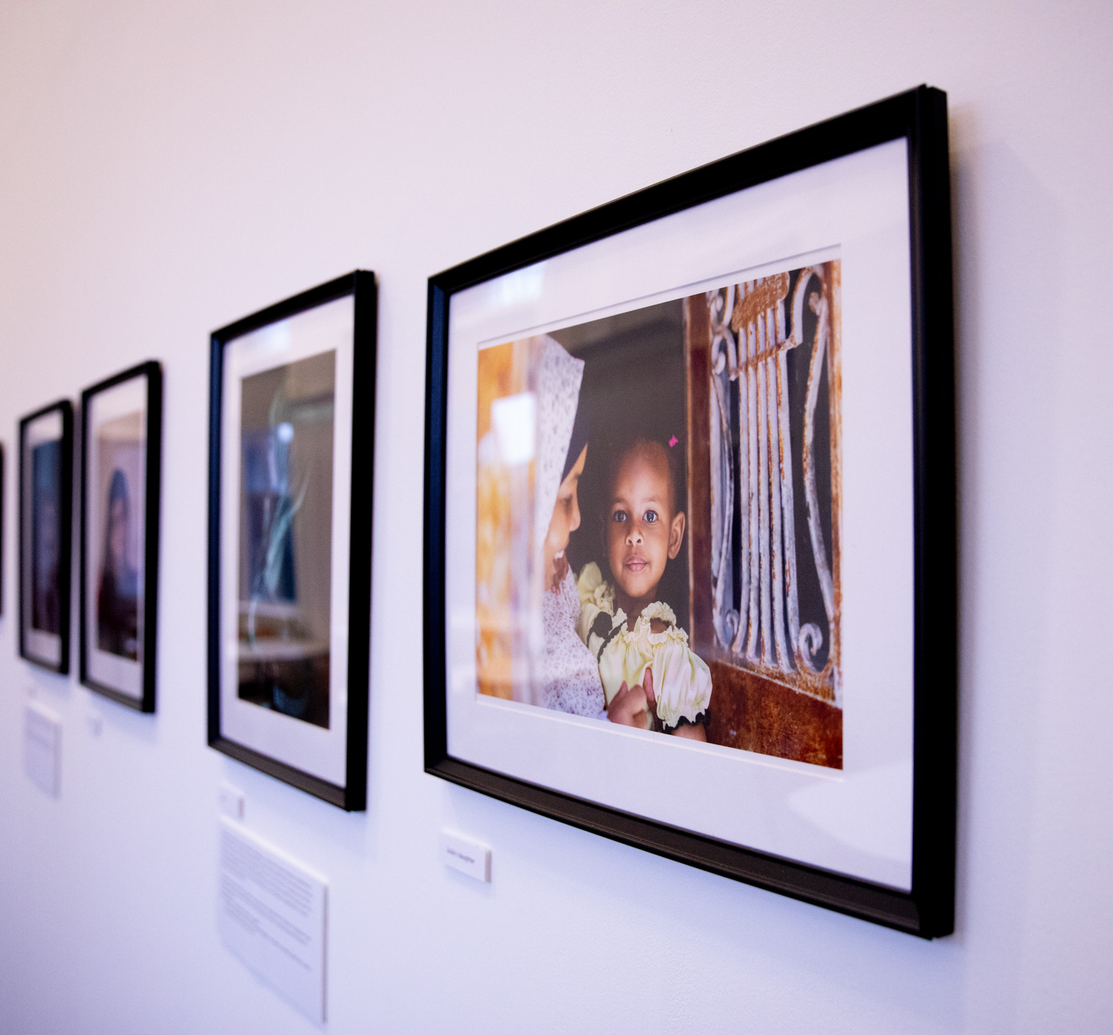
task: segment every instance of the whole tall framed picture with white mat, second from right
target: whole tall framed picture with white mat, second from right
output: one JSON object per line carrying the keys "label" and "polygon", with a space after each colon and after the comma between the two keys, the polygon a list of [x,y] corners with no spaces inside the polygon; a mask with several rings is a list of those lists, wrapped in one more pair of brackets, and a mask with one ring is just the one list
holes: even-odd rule
{"label": "whole tall framed picture with white mat, second from right", "polygon": [[348,810],[367,792],[375,277],[215,332],[208,742]]}

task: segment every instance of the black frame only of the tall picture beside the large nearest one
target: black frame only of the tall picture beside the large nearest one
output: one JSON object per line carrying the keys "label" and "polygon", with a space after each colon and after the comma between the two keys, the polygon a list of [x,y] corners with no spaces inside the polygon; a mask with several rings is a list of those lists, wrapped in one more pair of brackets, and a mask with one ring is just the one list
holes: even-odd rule
{"label": "black frame only of the tall picture beside the large nearest one", "polygon": [[[250,332],[326,303],[354,299],[352,393],[352,479],[348,528],[347,727],[343,786],[255,750],[229,737],[220,708],[220,520],[221,405],[224,356],[229,343]],[[368,662],[371,649],[371,566],[375,446],[376,371],[375,275],[357,269],[215,331],[210,338],[209,532],[208,532],[208,743],[209,747],[347,811],[366,808]],[[335,620],[334,620],[335,621]]]}

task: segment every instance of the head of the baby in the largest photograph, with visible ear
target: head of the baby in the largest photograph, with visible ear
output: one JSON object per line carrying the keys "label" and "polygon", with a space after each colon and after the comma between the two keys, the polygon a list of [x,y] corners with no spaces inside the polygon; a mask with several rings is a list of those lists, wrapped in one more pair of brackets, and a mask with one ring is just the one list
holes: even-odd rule
{"label": "head of the baby in the largest photograph, with visible ear", "polygon": [[680,551],[683,531],[684,515],[672,513],[664,447],[637,446],[615,474],[607,526],[611,572],[627,597],[652,599],[666,563]]}

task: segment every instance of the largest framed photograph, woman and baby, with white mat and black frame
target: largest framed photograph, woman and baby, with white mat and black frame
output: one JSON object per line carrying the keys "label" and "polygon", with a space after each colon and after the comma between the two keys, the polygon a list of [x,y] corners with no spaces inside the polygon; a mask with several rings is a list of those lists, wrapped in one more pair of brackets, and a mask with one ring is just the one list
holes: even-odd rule
{"label": "largest framed photograph, woman and baby, with white mat and black frame", "polygon": [[427,772],[952,931],[949,204],[920,87],[431,278]]}

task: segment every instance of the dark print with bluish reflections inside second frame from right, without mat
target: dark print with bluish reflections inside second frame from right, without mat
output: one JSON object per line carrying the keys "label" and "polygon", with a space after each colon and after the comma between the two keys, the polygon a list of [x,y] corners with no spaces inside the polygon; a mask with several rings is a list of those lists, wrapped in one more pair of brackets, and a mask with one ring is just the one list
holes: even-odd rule
{"label": "dark print with bluish reflections inside second frame from right, without mat", "polygon": [[242,382],[239,697],[328,727],[336,353]]}

